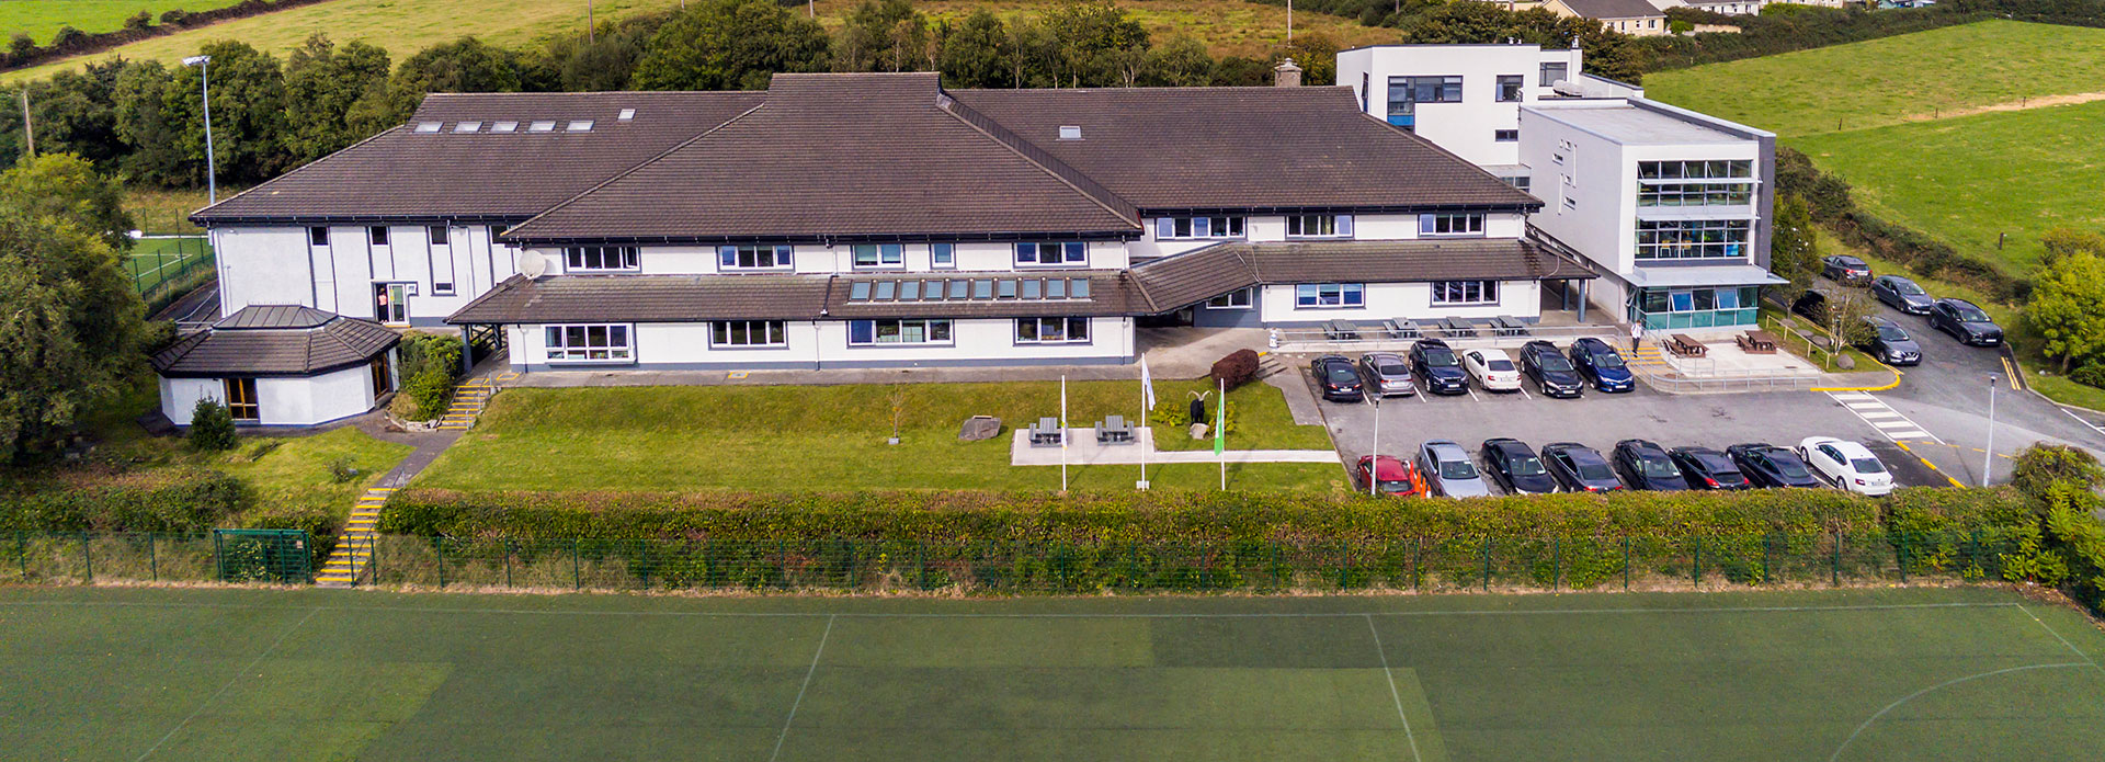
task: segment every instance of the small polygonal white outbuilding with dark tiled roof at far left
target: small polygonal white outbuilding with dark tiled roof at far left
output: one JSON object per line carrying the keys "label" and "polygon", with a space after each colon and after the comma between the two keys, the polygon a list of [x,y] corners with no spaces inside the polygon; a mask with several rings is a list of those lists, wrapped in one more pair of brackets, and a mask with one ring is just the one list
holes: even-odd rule
{"label": "small polygonal white outbuilding with dark tiled roof at far left", "polygon": [[299,305],[248,305],[149,360],[160,413],[189,425],[219,400],[238,425],[316,425],[373,410],[396,389],[402,335]]}

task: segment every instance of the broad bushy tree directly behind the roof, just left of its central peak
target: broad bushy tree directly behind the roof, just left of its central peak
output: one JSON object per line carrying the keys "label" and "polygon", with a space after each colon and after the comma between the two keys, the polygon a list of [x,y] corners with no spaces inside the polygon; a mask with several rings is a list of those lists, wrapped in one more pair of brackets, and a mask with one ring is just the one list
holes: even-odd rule
{"label": "broad bushy tree directly behind the roof, just left of its central peak", "polygon": [[674,15],[636,61],[640,91],[762,91],[775,72],[825,72],[819,21],[768,0],[703,0]]}

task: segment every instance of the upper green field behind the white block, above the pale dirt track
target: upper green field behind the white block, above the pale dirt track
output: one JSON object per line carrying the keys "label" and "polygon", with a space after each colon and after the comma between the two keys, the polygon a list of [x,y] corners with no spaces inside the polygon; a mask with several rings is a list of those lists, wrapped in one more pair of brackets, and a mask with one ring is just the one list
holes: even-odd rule
{"label": "upper green field behind the white block, above the pale dirt track", "polygon": [[1783,137],[1859,131],[2021,99],[2105,93],[2105,29],[1979,21],[1657,72],[1644,78],[1644,93]]}

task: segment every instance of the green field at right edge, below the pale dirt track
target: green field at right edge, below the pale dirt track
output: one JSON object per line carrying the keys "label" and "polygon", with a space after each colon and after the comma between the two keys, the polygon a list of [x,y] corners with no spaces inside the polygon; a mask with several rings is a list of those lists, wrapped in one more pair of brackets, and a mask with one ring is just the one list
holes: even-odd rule
{"label": "green field at right edge, below the pale dirt track", "polygon": [[[2105,61],[2105,55],[2101,55]],[[2105,101],[1791,141],[1865,208],[2029,272],[2054,227],[2105,229]],[[1998,246],[1998,238],[2008,236]]]}

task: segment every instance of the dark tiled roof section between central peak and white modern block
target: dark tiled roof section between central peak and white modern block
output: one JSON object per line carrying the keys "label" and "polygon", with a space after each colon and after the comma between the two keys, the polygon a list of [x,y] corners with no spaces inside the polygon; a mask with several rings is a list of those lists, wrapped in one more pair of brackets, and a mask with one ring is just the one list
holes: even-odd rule
{"label": "dark tiled roof section between central peak and white modern block", "polygon": [[[1362,114],[1343,86],[951,97],[1143,210],[1541,206]],[[1059,139],[1061,126],[1080,126],[1082,139]]]}

